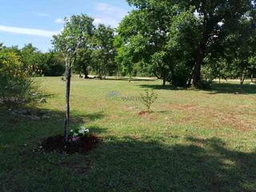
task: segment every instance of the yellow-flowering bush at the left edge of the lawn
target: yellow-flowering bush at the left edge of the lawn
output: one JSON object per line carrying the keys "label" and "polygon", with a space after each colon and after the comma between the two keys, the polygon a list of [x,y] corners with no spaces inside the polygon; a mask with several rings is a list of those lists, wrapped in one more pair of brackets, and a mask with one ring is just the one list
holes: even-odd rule
{"label": "yellow-flowering bush at the left edge of the lawn", "polygon": [[20,58],[15,53],[0,53],[0,100],[6,107],[17,104],[26,98],[35,88],[34,81],[28,74],[42,72],[32,65],[29,69],[22,66]]}

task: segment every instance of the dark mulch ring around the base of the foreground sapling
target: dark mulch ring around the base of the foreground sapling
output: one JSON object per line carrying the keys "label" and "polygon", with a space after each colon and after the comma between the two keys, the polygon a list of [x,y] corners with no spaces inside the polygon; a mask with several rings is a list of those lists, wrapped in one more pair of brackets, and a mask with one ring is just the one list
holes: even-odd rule
{"label": "dark mulch ring around the base of the foreground sapling", "polygon": [[101,137],[90,134],[89,137],[80,139],[78,143],[66,143],[63,135],[54,135],[42,140],[42,149],[46,152],[86,155],[102,141]]}

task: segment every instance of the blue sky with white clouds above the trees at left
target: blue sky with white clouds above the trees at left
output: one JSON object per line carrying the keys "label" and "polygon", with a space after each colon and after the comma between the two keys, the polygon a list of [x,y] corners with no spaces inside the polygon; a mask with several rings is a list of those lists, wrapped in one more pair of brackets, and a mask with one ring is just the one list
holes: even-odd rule
{"label": "blue sky with white clouds above the trees at left", "polygon": [[42,52],[52,48],[52,35],[59,33],[63,18],[87,14],[94,25],[117,27],[133,8],[126,0],[1,0],[0,42],[4,45],[33,43]]}

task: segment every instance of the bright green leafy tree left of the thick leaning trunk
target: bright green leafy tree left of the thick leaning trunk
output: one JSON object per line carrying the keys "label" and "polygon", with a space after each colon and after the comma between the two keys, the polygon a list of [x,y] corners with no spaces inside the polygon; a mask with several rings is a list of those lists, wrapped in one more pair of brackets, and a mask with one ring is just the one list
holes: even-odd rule
{"label": "bright green leafy tree left of the thick leaning trunk", "polygon": [[194,15],[185,12],[182,22],[177,19],[176,27],[171,28],[178,13],[178,6],[171,7],[173,2],[128,2],[138,10],[131,11],[118,27],[118,61],[125,66],[137,62],[147,64],[155,76],[162,78],[163,85],[166,80],[171,84],[185,85],[194,66],[191,62],[194,53],[191,47],[194,45],[188,43],[191,40],[181,41],[180,35],[174,32],[182,22],[194,25]]}

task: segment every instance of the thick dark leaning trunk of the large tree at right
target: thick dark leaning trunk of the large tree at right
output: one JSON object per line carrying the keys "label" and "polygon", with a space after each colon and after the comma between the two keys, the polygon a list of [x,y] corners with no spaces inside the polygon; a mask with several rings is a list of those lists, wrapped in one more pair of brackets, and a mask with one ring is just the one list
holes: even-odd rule
{"label": "thick dark leaning trunk of the large tree at right", "polygon": [[197,86],[198,80],[200,80],[200,77],[201,77],[201,66],[202,66],[202,61],[204,59],[205,49],[206,49],[206,45],[204,44],[198,45],[197,59],[195,61],[194,72],[193,72],[193,82],[192,82],[193,87]]}

